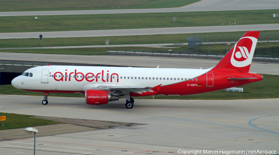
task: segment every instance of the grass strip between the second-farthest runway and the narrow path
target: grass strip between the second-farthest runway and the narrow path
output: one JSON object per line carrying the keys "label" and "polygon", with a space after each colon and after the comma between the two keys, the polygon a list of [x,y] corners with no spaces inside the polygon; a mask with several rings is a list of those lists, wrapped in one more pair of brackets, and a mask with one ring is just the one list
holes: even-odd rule
{"label": "grass strip between the second-farthest runway and the narrow path", "polygon": [[[206,45],[207,36],[210,42],[238,41],[245,32],[214,32],[214,33],[189,33],[189,34],[162,34],[162,35],[138,35],[138,36],[108,36],[108,37],[72,37],[72,38],[42,38],[41,47],[53,46],[82,46],[82,45],[105,45],[105,40],[109,40],[109,45],[131,45],[131,44],[163,44],[165,43],[188,43],[187,38],[191,36],[203,37],[203,44]],[[268,37],[269,34],[269,37]],[[275,36],[273,36],[275,34]],[[230,37],[228,37],[228,35]],[[236,37],[235,37],[236,35]],[[263,41],[279,40],[279,30],[261,31]],[[39,37],[39,36],[38,36]],[[275,37],[275,38],[274,38]],[[259,36],[261,41],[261,36]],[[15,47],[40,47],[39,38],[29,39],[1,39],[1,48]]]}

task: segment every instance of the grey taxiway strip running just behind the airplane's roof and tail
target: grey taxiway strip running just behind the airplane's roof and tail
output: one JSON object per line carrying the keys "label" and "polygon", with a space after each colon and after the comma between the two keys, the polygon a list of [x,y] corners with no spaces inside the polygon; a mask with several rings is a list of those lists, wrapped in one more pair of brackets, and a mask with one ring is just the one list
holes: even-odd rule
{"label": "grey taxiway strip running just behind the airplane's roof and tail", "polygon": [[[62,55],[62,54],[28,54],[28,53],[5,53],[0,52],[1,61],[36,61],[44,63],[67,62],[81,64],[135,66],[135,67],[157,67],[162,68],[210,68],[215,66],[220,59],[199,58],[173,58],[173,57],[149,57],[149,56],[127,56],[127,55]],[[5,68],[5,67],[3,67]],[[279,75],[278,62],[253,61],[250,72],[259,74]]]}

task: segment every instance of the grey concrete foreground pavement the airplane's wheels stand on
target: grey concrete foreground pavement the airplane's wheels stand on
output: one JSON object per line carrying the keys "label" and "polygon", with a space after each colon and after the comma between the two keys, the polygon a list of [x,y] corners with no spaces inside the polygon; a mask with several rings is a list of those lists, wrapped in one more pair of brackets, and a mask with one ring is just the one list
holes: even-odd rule
{"label": "grey concrete foreground pavement the airplane's wheels stand on", "polygon": [[[263,154],[252,153],[254,150],[273,151],[269,154],[279,151],[279,99],[135,99],[133,109],[126,109],[122,99],[98,106],[86,105],[84,98],[49,97],[48,105],[42,105],[41,100],[42,96],[0,95],[0,110],[36,116],[143,124],[37,137],[36,153],[41,155],[172,155],[181,151],[244,155]],[[45,132],[43,127],[38,128],[38,135],[40,131]],[[24,128],[17,130],[16,134],[27,135]],[[11,139],[0,142],[2,155],[33,153],[33,138],[5,138]]]}

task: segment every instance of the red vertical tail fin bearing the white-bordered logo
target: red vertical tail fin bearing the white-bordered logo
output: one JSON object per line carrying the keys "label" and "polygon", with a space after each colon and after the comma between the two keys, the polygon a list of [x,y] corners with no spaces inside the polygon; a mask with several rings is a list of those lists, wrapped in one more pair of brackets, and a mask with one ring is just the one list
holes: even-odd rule
{"label": "red vertical tail fin bearing the white-bordered logo", "polygon": [[246,32],[213,70],[235,69],[249,72],[258,37],[259,31]]}

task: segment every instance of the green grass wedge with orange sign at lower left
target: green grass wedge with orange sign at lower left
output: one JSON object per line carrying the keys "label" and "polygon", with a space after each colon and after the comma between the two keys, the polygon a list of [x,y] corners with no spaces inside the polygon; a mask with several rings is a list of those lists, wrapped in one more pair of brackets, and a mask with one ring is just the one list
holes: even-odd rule
{"label": "green grass wedge with orange sign at lower left", "polygon": [[0,130],[61,124],[61,122],[55,122],[51,120],[30,118],[32,115],[9,114],[0,112],[0,116],[6,116],[6,121],[3,122],[4,126],[2,126],[2,121],[0,121]]}

